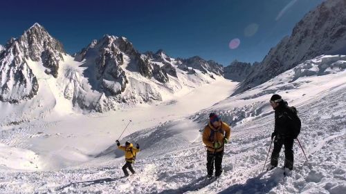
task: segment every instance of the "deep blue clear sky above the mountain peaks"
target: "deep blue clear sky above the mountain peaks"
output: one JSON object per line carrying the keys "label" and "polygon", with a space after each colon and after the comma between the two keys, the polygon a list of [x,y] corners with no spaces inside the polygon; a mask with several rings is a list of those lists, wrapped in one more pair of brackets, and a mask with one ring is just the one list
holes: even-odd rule
{"label": "deep blue clear sky above the mountain peaks", "polygon": [[[323,0],[3,1],[0,44],[40,23],[67,52],[103,35],[124,36],[140,52],[199,55],[223,65],[262,61]],[[239,39],[230,48],[230,41]]]}

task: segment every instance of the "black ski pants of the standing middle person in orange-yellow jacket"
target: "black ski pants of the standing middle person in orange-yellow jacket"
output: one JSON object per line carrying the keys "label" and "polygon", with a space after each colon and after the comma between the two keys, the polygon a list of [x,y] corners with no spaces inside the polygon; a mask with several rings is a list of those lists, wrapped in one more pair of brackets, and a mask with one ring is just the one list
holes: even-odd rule
{"label": "black ski pants of the standing middle person in orange-yellow jacket", "polygon": [[212,176],[215,164],[215,177],[219,177],[222,173],[222,157],[224,157],[224,150],[214,153],[207,151],[207,171],[208,176]]}

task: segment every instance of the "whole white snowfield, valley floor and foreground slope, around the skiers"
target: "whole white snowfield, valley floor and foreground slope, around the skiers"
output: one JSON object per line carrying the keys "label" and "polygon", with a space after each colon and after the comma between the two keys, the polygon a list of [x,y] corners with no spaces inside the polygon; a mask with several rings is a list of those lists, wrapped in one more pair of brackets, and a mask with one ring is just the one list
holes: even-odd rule
{"label": "whole white snowfield, valley floor and foreground slope, around the skiers", "polygon": [[[320,56],[235,96],[237,83],[218,79],[159,104],[116,112],[62,115],[64,108],[53,104],[41,118],[24,115],[8,124],[2,117],[0,193],[345,193],[345,68],[346,56]],[[279,167],[262,173],[274,93],[298,109],[298,138],[309,159],[295,142],[287,177],[283,151]],[[205,182],[201,142],[212,111],[232,126],[219,182]],[[136,174],[123,177],[115,140],[128,123],[120,143],[138,142],[141,152]]]}

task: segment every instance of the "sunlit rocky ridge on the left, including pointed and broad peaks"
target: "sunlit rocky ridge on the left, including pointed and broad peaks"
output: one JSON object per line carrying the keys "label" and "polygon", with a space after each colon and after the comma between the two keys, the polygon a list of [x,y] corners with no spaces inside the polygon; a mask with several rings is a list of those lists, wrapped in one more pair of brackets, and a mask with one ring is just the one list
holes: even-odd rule
{"label": "sunlit rocky ridge on the left, including pointed and broad peaks", "polygon": [[[64,101],[62,106],[104,112],[165,101],[223,79],[223,67],[214,61],[173,59],[163,50],[142,54],[125,37],[112,35],[93,40],[71,57],[38,23],[8,41],[0,54],[0,100],[17,104],[33,97],[42,104],[41,98],[50,96],[53,106]],[[57,100],[61,97],[71,103]]]}

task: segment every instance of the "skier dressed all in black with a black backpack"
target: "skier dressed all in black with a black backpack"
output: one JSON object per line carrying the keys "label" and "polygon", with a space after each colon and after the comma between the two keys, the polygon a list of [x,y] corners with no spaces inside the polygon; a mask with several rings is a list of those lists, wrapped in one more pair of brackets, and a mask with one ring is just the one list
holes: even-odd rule
{"label": "skier dressed all in black with a black backpack", "polygon": [[300,133],[300,119],[297,116],[297,110],[289,107],[287,102],[280,95],[271,97],[271,106],[275,110],[275,130],[271,134],[274,139],[274,149],[271,154],[271,164],[267,170],[271,170],[277,166],[282,145],[284,145],[284,168],[293,170],[293,140],[297,139]]}

